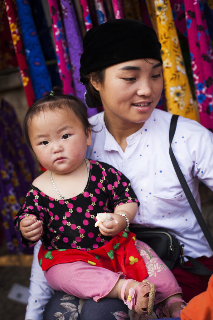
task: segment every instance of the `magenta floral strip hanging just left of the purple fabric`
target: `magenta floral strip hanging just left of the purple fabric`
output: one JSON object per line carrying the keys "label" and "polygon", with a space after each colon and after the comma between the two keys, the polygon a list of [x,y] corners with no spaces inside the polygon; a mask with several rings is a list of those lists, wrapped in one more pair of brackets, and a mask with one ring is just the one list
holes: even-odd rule
{"label": "magenta floral strip hanging just left of the purple fabric", "polygon": [[56,58],[64,94],[75,94],[64,27],[57,0],[48,0],[55,39]]}

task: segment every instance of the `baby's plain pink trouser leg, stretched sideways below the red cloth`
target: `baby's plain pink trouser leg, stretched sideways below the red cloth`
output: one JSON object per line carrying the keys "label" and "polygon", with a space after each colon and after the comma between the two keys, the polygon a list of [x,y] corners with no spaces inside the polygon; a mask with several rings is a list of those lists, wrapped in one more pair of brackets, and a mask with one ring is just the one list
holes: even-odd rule
{"label": "baby's plain pink trouser leg, stretched sideways below the red cloth", "polygon": [[[45,271],[47,282],[54,290],[64,291],[81,299],[98,302],[114,288],[122,273],[76,261],[52,266]],[[117,298],[117,297],[116,297]]]}

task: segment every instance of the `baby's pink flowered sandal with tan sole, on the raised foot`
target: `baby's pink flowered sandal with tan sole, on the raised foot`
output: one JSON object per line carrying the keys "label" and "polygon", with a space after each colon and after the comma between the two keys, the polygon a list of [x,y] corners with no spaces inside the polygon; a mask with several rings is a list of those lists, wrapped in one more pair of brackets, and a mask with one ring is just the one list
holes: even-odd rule
{"label": "baby's pink flowered sandal with tan sole, on the raised foot", "polygon": [[[139,315],[151,315],[153,312],[155,301],[155,285],[150,284],[148,280],[143,280],[135,288],[131,287],[128,292],[128,297],[125,299],[126,287],[129,282],[135,280],[126,280],[121,288],[121,299],[130,310],[134,310]],[[136,302],[135,302],[136,300]]]}

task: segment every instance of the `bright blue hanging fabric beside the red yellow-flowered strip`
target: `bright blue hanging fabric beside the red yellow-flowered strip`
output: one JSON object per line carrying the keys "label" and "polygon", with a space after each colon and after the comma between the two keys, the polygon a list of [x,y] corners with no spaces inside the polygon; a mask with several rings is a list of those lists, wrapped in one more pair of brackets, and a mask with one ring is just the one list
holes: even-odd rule
{"label": "bright blue hanging fabric beside the red yellow-flowered strip", "polygon": [[32,17],[30,3],[28,0],[17,0],[16,5],[26,52],[27,65],[35,92],[35,98],[38,100],[43,97],[45,90],[52,90],[52,84]]}

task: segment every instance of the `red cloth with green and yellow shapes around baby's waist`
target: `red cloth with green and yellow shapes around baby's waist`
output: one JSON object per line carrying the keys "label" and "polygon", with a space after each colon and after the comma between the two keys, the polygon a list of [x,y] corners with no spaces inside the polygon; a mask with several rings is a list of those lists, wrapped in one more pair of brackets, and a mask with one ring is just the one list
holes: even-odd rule
{"label": "red cloth with green and yellow shapes around baby's waist", "polygon": [[96,267],[109,269],[113,272],[122,272],[126,279],[144,280],[147,269],[135,243],[136,236],[132,232],[119,232],[108,243],[88,251],[77,249],[57,249],[48,251],[43,244],[38,253],[39,264],[42,270],[51,266],[74,261],[85,261]]}

